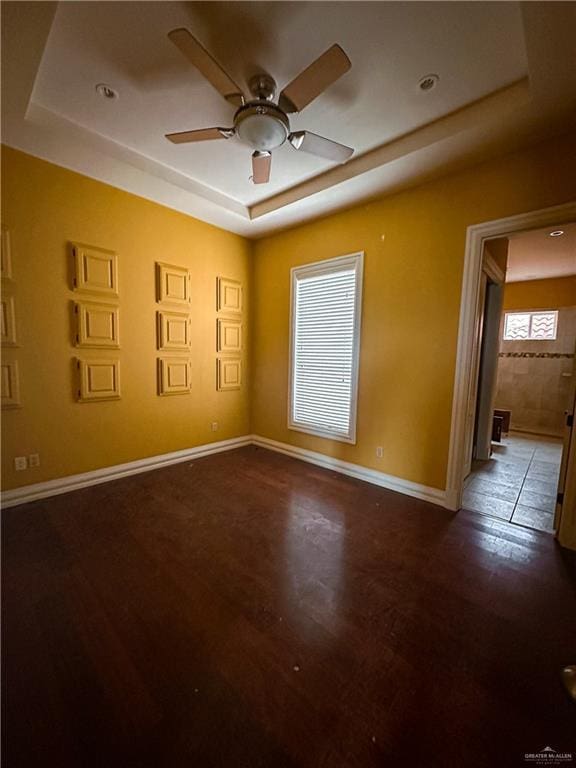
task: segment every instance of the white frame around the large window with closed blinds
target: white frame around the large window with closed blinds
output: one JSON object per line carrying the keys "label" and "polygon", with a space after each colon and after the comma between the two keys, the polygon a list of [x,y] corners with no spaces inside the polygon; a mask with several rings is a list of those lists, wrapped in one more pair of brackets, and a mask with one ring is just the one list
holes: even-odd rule
{"label": "white frame around the large window with closed blinds", "polygon": [[[354,295],[354,334],[352,337],[352,374],[350,381],[350,421],[346,435],[328,429],[307,425],[295,421],[294,413],[294,364],[296,336],[296,286],[302,277],[319,277],[353,268],[356,271],[356,291]],[[303,432],[315,437],[337,440],[342,443],[356,444],[356,425],[358,414],[358,379],[360,372],[360,336],[362,328],[362,289],[364,276],[364,251],[357,251],[345,256],[314,261],[292,267],[290,270],[290,350],[288,356],[288,429]]]}

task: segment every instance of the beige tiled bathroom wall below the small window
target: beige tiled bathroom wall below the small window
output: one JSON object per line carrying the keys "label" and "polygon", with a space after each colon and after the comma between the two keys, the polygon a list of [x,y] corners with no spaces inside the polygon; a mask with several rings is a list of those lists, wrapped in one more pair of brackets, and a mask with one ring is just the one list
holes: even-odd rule
{"label": "beige tiled bathroom wall below the small window", "polygon": [[512,411],[512,429],[562,435],[575,346],[576,306],[558,310],[555,341],[500,342],[496,408]]}

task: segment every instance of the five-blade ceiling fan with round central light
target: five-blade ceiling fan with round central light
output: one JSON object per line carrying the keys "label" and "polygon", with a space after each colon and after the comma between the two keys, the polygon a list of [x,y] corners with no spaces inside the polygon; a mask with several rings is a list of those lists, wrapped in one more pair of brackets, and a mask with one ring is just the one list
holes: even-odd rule
{"label": "five-blade ceiling fan with round central light", "polygon": [[168,37],[184,56],[204,75],[211,85],[235,106],[232,128],[201,128],[195,131],[168,133],[166,138],[174,144],[186,144],[212,139],[231,139],[252,147],[252,181],[265,184],[270,179],[272,150],[288,141],[294,149],[345,163],[354,150],[310,131],[291,131],[288,114],[300,112],[329,85],[345,74],[350,59],[339,45],[333,45],[301,72],[280,93],[274,103],[276,83],[270,75],[255,75],[248,83],[252,98],[244,94],[220,64],[201,43],[184,28],[174,29]]}

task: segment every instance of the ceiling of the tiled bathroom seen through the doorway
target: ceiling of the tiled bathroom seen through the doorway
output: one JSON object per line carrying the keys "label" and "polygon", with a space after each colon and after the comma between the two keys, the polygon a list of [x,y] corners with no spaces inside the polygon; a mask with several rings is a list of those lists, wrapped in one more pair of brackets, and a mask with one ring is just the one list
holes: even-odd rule
{"label": "ceiling of the tiled bathroom seen through the doorway", "polygon": [[[564,234],[550,237],[555,230]],[[522,232],[510,238],[507,283],[568,275],[576,275],[576,222]]]}

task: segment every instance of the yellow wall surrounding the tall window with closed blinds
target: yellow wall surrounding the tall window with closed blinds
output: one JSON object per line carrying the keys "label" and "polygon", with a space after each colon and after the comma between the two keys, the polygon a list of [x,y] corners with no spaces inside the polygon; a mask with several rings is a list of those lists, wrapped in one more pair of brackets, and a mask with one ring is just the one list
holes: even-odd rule
{"label": "yellow wall surrounding the tall window with closed blinds", "polygon": [[[574,199],[573,147],[573,137],[556,139],[259,241],[252,431],[444,488],[466,228]],[[361,250],[352,446],[287,429],[289,274],[295,265]]]}

